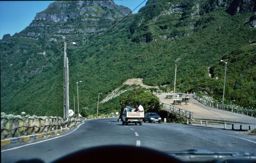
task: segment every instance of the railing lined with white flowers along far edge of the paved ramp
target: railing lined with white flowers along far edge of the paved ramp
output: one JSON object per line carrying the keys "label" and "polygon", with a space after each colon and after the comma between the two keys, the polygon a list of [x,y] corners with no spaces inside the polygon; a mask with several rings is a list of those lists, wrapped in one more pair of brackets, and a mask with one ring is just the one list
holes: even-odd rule
{"label": "railing lined with white flowers along far edge of the paved ramp", "polygon": [[248,115],[251,117],[256,117],[256,110],[252,110],[252,109],[244,109],[242,107],[234,107],[234,106],[230,106],[230,105],[222,105],[219,103],[215,103],[212,101],[208,101],[206,99],[203,99],[202,97],[199,97],[198,95],[194,94],[192,96],[194,99],[196,99],[197,101],[199,101],[200,103],[209,106],[209,107],[213,107],[216,109],[222,109],[225,111],[231,111],[233,113],[239,113],[239,114],[243,114],[243,115]]}

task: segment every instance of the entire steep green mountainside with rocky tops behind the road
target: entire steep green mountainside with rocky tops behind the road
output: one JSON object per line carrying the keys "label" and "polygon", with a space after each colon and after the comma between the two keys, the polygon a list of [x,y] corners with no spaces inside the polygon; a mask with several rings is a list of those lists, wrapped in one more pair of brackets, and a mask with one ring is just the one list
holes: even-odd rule
{"label": "entire steep green mountainside with rocky tops behind the road", "polygon": [[[176,91],[206,91],[256,108],[256,4],[148,0],[138,14],[113,1],[56,1],[14,36],[0,40],[1,112],[63,115],[63,45],[68,44],[70,109],[96,113],[130,78]],[[209,75],[210,73],[210,75]],[[167,88],[166,87],[166,88]],[[125,93],[124,93],[125,94]],[[74,100],[75,97],[75,100]],[[120,109],[116,97],[100,113]]]}

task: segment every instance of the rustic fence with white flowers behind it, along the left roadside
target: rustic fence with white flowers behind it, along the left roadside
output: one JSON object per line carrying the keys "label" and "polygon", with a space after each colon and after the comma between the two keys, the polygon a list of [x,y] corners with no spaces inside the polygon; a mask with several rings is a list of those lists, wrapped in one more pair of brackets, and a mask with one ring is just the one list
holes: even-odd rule
{"label": "rustic fence with white flowers behind it, along the left roadside", "polygon": [[81,122],[81,118],[1,117],[1,139],[55,131]]}

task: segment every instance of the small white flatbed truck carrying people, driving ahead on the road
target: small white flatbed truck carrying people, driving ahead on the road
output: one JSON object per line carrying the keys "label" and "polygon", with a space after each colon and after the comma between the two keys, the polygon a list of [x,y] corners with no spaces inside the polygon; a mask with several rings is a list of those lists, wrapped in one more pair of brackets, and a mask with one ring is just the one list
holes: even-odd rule
{"label": "small white flatbed truck carrying people, driving ahead on the road", "polygon": [[135,109],[132,109],[132,111],[126,111],[124,110],[124,113],[122,113],[122,124],[128,125],[128,123],[139,123],[142,125],[142,121],[144,118],[144,111],[138,111],[134,112]]}

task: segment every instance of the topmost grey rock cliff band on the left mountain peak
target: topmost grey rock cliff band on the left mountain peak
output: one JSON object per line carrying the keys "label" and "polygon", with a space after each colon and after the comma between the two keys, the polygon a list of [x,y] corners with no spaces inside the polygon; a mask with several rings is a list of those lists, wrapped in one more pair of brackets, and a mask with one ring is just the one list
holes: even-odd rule
{"label": "topmost grey rock cliff band on the left mountain peak", "polygon": [[[107,13],[106,8],[113,10],[112,13]],[[116,15],[115,12],[119,13]],[[131,10],[129,8],[117,6],[112,0],[58,1],[50,4],[45,11],[36,14],[35,20],[58,22],[61,20],[66,21],[70,18],[76,19],[79,16],[92,17],[87,20],[98,20],[101,16],[105,19],[116,20],[116,18],[126,16],[130,12]],[[86,19],[80,18],[80,20]]]}

